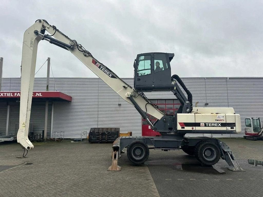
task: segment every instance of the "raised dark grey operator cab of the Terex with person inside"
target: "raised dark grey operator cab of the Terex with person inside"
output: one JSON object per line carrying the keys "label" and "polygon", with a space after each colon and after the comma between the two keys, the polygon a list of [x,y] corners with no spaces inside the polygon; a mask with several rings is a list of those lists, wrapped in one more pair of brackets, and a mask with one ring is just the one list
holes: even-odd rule
{"label": "raised dark grey operator cab of the Terex with person inside", "polygon": [[173,53],[142,53],[134,61],[134,88],[142,92],[171,91]]}

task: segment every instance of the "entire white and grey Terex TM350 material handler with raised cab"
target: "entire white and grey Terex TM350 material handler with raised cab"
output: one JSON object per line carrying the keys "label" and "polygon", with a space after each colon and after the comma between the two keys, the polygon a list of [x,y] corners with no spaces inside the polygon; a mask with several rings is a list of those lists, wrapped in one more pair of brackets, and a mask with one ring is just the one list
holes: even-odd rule
{"label": "entire white and grey Terex TM350 material handler with raised cab", "polygon": [[[47,32],[50,34],[47,34]],[[36,67],[37,47],[40,40],[70,51],[83,64],[108,84],[125,101],[132,104],[140,115],[161,136],[124,136],[113,143],[112,166],[108,170],[120,170],[118,159],[123,148],[134,164],[143,164],[149,156],[149,147],[163,151],[182,149],[189,155],[195,155],[204,165],[214,165],[225,159],[229,169],[242,171],[230,148],[218,139],[209,137],[185,137],[186,133],[240,133],[240,115],[233,108],[193,107],[191,92],[178,75],[171,76],[170,62],[173,53],[138,54],[134,61],[134,88],[120,79],[107,66],[100,63],[76,40],[70,39],[46,20],[36,20],[24,33],[22,49],[22,74],[19,130],[17,142],[25,150],[33,149],[28,139],[28,127],[32,102],[32,91]],[[187,98],[180,86],[186,92]],[[174,115],[167,115],[158,106],[153,105],[144,92],[172,91],[181,106]],[[157,120],[151,122],[149,116]],[[121,117],[120,117],[121,118]],[[128,122],[127,122],[128,123]]]}

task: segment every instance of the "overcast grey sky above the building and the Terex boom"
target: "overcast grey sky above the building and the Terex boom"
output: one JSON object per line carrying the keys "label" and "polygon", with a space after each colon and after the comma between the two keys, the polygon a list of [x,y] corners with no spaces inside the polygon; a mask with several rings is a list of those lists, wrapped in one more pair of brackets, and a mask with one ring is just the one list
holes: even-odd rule
{"label": "overcast grey sky above the building and the Terex boom", "polygon": [[[3,77],[20,77],[23,33],[46,19],[119,77],[136,55],[174,53],[181,77],[263,76],[262,1],[1,0]],[[96,77],[69,51],[42,40],[36,70],[51,58],[54,77]],[[36,77],[46,76],[46,66]],[[52,76],[52,75],[51,75]]]}

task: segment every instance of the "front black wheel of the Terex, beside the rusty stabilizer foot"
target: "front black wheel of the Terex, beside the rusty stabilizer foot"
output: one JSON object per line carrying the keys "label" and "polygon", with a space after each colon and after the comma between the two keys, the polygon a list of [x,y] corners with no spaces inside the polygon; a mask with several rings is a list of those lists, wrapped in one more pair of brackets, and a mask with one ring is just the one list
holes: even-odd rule
{"label": "front black wheel of the Terex, beside the rusty stabilizer foot", "polygon": [[143,164],[149,157],[149,148],[144,142],[135,140],[128,145],[127,156],[132,163]]}

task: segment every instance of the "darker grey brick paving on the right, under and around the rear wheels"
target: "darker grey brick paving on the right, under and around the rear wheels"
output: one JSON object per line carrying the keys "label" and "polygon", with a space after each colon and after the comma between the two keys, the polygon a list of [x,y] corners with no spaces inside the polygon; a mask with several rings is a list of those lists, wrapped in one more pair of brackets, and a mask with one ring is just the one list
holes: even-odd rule
{"label": "darker grey brick paving on the right, under and around the rear wheels", "polygon": [[[247,161],[251,158],[263,160],[263,141],[221,140],[230,146],[246,172],[232,172],[220,159],[216,166],[226,174],[213,174],[214,171],[204,167],[197,168],[199,162],[184,152],[154,151],[147,163],[160,196],[263,196],[263,167],[255,167]],[[184,170],[178,169],[180,167]]]}

